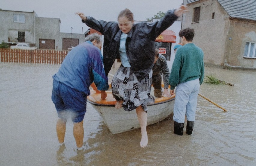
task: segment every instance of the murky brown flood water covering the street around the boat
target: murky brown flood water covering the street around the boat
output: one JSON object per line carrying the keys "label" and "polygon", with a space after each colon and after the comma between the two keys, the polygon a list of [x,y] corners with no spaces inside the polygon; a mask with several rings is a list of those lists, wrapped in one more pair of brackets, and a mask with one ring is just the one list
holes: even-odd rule
{"label": "murky brown flood water covering the street around the boat", "polygon": [[140,129],[113,135],[87,103],[85,149],[76,152],[70,119],[65,146],[57,141],[51,91],[58,68],[0,62],[0,165],[256,165],[256,71],[206,67],[205,75],[234,84],[200,86],[227,112],[198,96],[192,135],[173,134],[170,115],[147,127],[146,148]]}

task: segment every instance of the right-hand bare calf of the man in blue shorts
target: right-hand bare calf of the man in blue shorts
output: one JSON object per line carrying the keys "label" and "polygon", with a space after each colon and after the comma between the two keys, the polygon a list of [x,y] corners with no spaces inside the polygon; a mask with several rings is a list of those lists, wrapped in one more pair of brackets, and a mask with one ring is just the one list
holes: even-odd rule
{"label": "right-hand bare calf of the man in blue shorts", "polygon": [[75,141],[76,141],[76,146],[82,147],[83,146],[83,141],[84,141],[84,126],[83,126],[83,122],[78,122],[78,123],[74,123],[74,127],[73,127],[73,134],[75,137]]}

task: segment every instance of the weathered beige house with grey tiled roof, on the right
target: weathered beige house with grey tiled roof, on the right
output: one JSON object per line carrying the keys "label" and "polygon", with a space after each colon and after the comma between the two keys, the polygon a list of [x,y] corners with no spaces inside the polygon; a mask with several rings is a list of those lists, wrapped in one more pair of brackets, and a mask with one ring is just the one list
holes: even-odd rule
{"label": "weathered beige house with grey tiled roof, on the right", "polygon": [[194,28],[193,42],[205,64],[256,68],[256,0],[184,0],[182,29]]}

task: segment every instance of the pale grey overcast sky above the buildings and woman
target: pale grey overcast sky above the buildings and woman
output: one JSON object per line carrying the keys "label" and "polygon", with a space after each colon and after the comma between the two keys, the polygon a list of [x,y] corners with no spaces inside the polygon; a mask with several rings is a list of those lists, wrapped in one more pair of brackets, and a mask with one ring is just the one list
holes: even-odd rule
{"label": "pale grey overcast sky above the buildings and woman", "polygon": [[131,10],[134,20],[145,21],[157,12],[166,12],[178,8],[183,0],[0,0],[2,10],[32,12],[38,17],[59,18],[60,32],[83,33],[88,27],[81,22],[76,12],[105,21],[117,21],[119,12],[125,8]]}

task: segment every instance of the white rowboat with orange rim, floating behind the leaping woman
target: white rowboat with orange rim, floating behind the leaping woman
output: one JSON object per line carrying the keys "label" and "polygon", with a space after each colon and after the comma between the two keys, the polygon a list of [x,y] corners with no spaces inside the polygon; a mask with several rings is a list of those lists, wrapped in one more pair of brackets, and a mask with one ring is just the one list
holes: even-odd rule
{"label": "white rowboat with orange rim, floating behind the leaping woman", "polygon": [[[102,100],[100,93],[91,90],[91,95],[87,96],[87,102],[102,116],[110,132],[117,134],[140,128],[136,111],[128,112],[123,110],[123,108],[116,109],[116,100],[113,98],[112,92],[106,91],[106,93],[107,98]],[[155,103],[148,105],[147,125],[157,123],[167,118],[173,112],[174,101],[175,95],[170,98],[155,98]]]}

